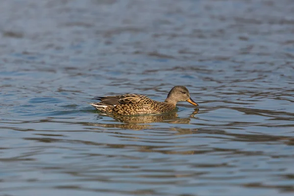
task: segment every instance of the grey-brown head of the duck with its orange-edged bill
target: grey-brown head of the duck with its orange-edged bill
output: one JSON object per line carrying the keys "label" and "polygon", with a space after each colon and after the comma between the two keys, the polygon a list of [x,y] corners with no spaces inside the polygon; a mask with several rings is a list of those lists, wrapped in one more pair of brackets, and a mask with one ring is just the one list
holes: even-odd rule
{"label": "grey-brown head of the duck with its orange-edged bill", "polygon": [[165,102],[176,104],[178,101],[188,101],[189,103],[198,106],[198,104],[190,98],[188,89],[184,86],[175,86],[170,91]]}

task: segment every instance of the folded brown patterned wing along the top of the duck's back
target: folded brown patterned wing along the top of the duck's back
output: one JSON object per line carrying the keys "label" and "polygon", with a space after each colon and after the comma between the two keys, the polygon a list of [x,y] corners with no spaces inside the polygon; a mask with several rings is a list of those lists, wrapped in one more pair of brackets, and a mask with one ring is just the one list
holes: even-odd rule
{"label": "folded brown patterned wing along the top of the duck's back", "polygon": [[118,96],[107,96],[107,97],[95,97],[94,99],[100,100],[100,103],[108,105],[119,105],[119,104],[150,104],[153,100],[144,95],[138,94],[126,94]]}

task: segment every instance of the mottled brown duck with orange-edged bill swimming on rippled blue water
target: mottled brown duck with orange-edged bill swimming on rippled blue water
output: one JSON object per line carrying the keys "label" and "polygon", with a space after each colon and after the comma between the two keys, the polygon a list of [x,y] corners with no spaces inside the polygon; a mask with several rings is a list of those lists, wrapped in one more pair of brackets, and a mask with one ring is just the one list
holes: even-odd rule
{"label": "mottled brown duck with orange-edged bill swimming on rippled blue water", "polygon": [[125,94],[107,97],[94,97],[100,102],[88,103],[98,111],[112,115],[142,115],[160,114],[175,110],[176,103],[187,101],[192,105],[198,104],[190,97],[185,86],[174,86],[164,102],[156,101],[145,95]]}

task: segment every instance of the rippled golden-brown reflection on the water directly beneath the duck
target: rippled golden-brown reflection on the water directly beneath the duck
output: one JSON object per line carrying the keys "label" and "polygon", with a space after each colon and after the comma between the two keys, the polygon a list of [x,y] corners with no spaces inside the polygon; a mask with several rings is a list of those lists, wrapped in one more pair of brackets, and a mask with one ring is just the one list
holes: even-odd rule
{"label": "rippled golden-brown reflection on the water directly beneath the duck", "polygon": [[[109,127],[109,128],[122,128],[122,129],[134,129],[141,130],[151,127],[150,123],[172,123],[172,124],[189,124],[191,117],[194,117],[199,111],[198,108],[190,115],[190,118],[179,118],[176,111],[166,114],[156,115],[141,115],[141,116],[123,116],[123,115],[107,115],[113,118],[113,121],[109,123],[91,123],[91,125]],[[101,115],[97,116],[97,119],[101,119]],[[119,122],[119,123],[110,123]]]}

